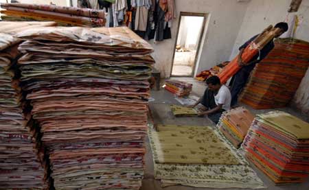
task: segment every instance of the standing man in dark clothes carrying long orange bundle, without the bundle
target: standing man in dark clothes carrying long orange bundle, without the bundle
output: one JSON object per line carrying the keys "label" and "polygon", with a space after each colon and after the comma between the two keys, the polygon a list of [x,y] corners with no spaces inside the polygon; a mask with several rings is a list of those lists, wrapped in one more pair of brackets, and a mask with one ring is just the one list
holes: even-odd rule
{"label": "standing man in dark clothes carrying long orange bundle, without the bundle", "polygon": [[[275,36],[275,38],[278,38],[284,32],[288,30],[288,24],[287,23],[277,23],[275,27],[280,29],[280,32]],[[269,43],[267,43],[263,49],[260,50],[259,54],[254,56],[248,63],[242,62],[242,52],[244,49],[257,37],[258,35],[253,36],[248,40],[246,43],[244,43],[242,46],[240,46],[238,54],[238,65],[242,67],[232,78],[231,81],[231,106],[236,106],[238,101],[238,95],[242,88],[244,88],[244,85],[247,83],[247,80],[249,78],[249,75],[251,71],[254,69],[255,64],[263,60],[269,52],[275,47],[273,40],[271,40]]]}

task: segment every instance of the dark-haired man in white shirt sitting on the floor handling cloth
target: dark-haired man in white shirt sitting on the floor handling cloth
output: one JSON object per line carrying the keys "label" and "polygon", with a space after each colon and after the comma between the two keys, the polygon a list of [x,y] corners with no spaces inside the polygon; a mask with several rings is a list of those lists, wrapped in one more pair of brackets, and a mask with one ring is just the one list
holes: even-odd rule
{"label": "dark-haired man in white shirt sitting on the floor handling cloth", "polygon": [[217,76],[208,78],[206,84],[208,88],[206,88],[203,97],[192,107],[201,103],[205,108],[202,108],[198,115],[208,115],[211,121],[218,123],[222,112],[229,110],[231,106],[231,93],[227,86],[221,84]]}

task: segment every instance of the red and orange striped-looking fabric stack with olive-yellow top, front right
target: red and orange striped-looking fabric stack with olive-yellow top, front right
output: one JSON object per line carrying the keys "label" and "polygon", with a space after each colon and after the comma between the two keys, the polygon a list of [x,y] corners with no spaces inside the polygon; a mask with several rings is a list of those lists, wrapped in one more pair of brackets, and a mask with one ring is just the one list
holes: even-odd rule
{"label": "red and orange striped-looking fabric stack with olive-yellow top, front right", "polygon": [[286,112],[258,115],[242,143],[275,183],[303,182],[309,172],[309,123]]}

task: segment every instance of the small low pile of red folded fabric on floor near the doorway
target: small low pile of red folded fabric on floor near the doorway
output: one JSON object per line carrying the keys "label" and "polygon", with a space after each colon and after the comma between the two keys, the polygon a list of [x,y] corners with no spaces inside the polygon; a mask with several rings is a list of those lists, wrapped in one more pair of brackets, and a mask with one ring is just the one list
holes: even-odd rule
{"label": "small low pile of red folded fabric on floor near the doorway", "polygon": [[192,84],[179,80],[166,80],[164,88],[179,97],[183,97],[190,95]]}

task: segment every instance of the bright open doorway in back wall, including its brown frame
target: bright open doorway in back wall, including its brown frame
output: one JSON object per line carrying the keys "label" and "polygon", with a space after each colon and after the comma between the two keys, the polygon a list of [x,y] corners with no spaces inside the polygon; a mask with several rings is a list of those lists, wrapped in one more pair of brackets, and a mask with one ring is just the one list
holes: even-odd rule
{"label": "bright open doorway in back wall, including its brown frame", "polygon": [[181,12],[177,31],[172,77],[193,77],[207,14]]}

